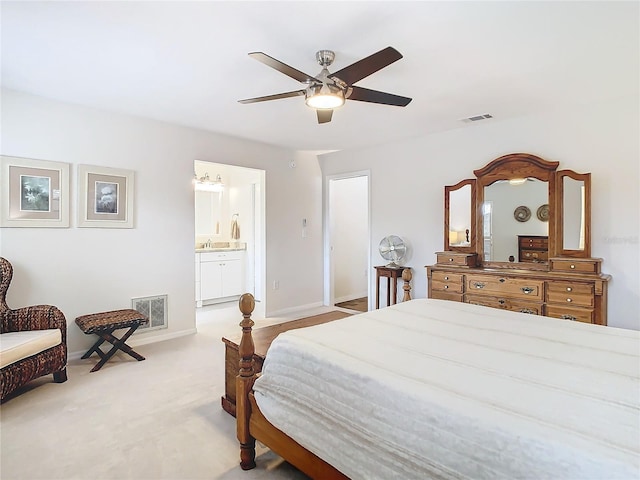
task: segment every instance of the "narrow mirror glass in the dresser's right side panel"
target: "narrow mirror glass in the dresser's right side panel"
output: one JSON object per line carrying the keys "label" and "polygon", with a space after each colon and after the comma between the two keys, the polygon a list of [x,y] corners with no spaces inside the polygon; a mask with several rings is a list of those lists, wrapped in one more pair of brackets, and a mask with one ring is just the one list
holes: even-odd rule
{"label": "narrow mirror glass in the dresser's right side panel", "polygon": [[565,250],[584,250],[585,186],[584,181],[563,178],[562,229]]}

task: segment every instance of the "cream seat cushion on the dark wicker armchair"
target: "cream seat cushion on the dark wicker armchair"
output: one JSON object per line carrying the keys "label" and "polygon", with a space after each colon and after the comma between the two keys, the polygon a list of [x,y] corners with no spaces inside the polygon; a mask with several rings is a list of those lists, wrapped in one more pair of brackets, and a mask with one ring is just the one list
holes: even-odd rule
{"label": "cream seat cushion on the dark wicker armchair", "polygon": [[62,333],[59,328],[3,333],[0,335],[0,368],[61,343]]}

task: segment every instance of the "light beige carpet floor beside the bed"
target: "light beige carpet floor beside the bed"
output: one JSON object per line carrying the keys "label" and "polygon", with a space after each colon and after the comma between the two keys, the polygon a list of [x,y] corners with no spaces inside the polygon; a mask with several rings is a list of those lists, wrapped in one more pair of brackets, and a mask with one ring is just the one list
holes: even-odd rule
{"label": "light beige carpet floor beside the bed", "polygon": [[[256,328],[316,315],[254,319]],[[198,333],[116,354],[72,360],[69,380],[30,382],[0,406],[3,480],[306,480],[258,445],[257,468],[242,471],[235,419],[224,412],[224,345],[238,331],[237,304],[198,309]],[[73,325],[70,326],[73,328]]]}

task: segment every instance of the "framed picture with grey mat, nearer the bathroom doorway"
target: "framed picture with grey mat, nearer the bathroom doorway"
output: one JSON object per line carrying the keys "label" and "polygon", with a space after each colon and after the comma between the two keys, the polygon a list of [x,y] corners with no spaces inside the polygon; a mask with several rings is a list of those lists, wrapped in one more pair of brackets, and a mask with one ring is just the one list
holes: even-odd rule
{"label": "framed picture with grey mat, nearer the bathroom doorway", "polygon": [[78,165],[78,226],[133,228],[132,170]]}

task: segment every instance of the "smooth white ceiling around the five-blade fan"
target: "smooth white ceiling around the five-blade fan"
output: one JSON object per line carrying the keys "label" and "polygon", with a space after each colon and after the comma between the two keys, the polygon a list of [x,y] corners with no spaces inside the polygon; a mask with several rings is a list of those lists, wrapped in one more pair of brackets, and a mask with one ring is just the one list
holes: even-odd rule
{"label": "smooth white ceiling around the five-blade fan", "polygon": [[[2,1],[2,85],[297,150],[375,145],[638,95],[639,3]],[[247,56],[316,75],[387,46],[400,61],[357,85],[412,97],[347,101],[318,125],[302,85]],[[634,98],[634,97],[632,97]]]}

